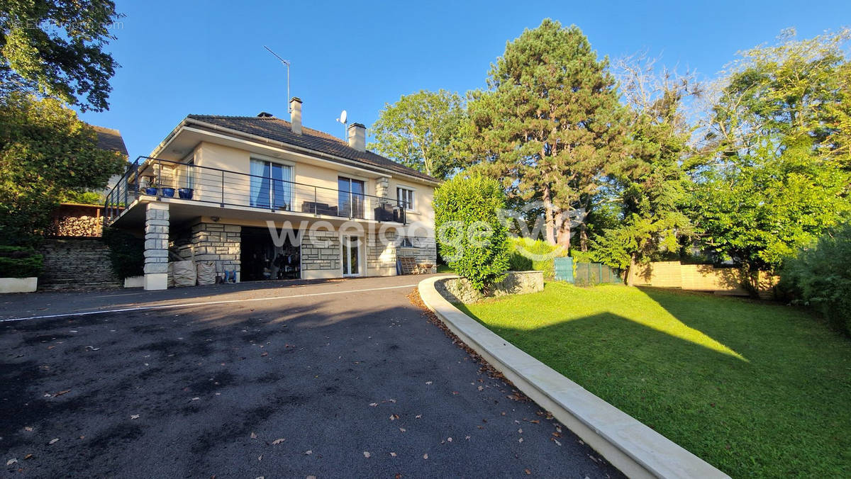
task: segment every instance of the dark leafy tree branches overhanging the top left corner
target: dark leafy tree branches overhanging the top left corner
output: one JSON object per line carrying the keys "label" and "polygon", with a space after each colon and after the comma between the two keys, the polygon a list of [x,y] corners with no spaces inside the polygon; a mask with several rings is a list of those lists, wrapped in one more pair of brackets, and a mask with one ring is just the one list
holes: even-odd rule
{"label": "dark leafy tree branches overhanging the top left corner", "polygon": [[0,0],[0,91],[46,94],[81,111],[108,109],[118,64],[103,48],[120,26],[115,3]]}

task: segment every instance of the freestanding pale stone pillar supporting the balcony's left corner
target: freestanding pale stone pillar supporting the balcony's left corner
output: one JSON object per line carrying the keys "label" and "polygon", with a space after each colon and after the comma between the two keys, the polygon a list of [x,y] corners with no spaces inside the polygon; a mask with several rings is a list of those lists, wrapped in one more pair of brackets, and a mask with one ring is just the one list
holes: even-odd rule
{"label": "freestanding pale stone pillar supporting the balcony's left corner", "polygon": [[168,288],[168,203],[149,202],[145,212],[145,289]]}

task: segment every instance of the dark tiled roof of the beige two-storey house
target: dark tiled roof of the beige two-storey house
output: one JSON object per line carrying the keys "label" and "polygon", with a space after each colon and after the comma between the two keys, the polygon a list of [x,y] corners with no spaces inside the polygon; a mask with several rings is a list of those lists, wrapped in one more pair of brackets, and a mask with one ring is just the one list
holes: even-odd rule
{"label": "dark tiled roof of the beige two-storey house", "polygon": [[300,146],[309,150],[346,158],[367,167],[389,169],[401,174],[407,174],[422,180],[437,181],[427,174],[420,173],[414,168],[408,168],[389,158],[372,151],[357,151],[344,140],[332,134],[327,134],[311,128],[301,128],[301,134],[294,134],[290,123],[276,117],[226,117],[219,115],[189,115],[187,118],[219,127],[234,129],[247,134],[254,134],[269,140],[280,141],[288,145]]}

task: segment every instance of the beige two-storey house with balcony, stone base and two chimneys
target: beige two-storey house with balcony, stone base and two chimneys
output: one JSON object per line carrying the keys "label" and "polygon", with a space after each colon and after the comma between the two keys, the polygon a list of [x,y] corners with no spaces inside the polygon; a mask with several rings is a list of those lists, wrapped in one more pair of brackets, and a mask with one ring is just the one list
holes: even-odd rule
{"label": "beige two-storey house with balcony, stone base and two chimneys", "polygon": [[140,157],[106,199],[109,225],[145,235],[145,288],[167,285],[175,255],[237,281],[433,271],[437,180],[290,121],[189,115]]}

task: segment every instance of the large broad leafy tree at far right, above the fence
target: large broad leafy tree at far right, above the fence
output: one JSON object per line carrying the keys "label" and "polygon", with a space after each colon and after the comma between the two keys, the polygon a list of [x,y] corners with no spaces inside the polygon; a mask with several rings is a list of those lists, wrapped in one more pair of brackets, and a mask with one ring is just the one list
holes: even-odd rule
{"label": "large broad leafy tree at far right, above the fence", "polygon": [[831,143],[848,35],[753,48],[724,79],[690,205],[719,259],[774,269],[851,213],[848,157]]}

